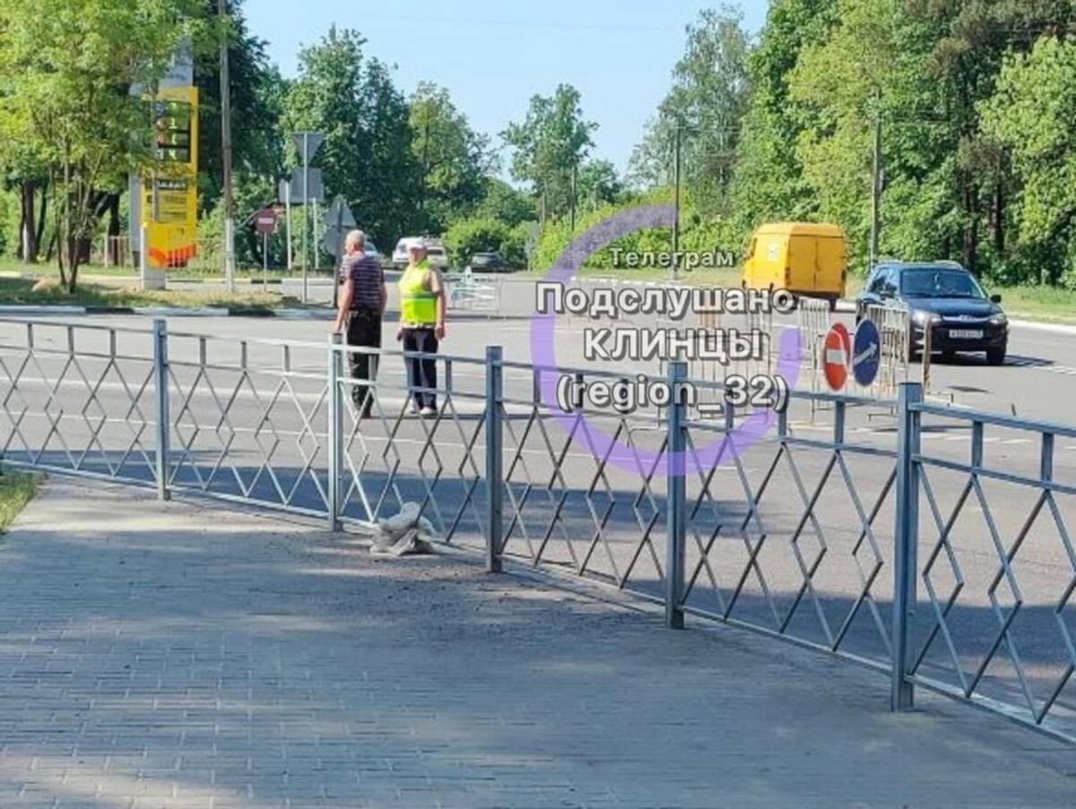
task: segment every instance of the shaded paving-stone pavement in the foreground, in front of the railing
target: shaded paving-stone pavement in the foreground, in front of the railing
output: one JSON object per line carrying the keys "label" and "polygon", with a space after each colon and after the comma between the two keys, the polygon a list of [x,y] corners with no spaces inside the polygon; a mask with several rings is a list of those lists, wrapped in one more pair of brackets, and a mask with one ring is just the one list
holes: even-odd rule
{"label": "shaded paving-stone pavement in the foreground, in front of the railing", "polygon": [[54,479],[0,541],[3,809],[1076,804],[1076,751],[886,705],[783,643],[202,502]]}

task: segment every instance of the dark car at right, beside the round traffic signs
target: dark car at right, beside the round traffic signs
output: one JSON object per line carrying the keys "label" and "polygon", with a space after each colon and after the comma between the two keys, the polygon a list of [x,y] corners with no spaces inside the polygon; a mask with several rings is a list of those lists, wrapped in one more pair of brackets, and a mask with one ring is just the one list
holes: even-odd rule
{"label": "dark car at right, beside the round traffic signs", "polygon": [[923,350],[944,355],[985,352],[990,365],[1005,363],[1008,318],[1000,295],[988,296],[975,276],[955,261],[883,261],[867,278],[855,301],[855,320],[872,303],[904,303],[911,315],[909,356]]}

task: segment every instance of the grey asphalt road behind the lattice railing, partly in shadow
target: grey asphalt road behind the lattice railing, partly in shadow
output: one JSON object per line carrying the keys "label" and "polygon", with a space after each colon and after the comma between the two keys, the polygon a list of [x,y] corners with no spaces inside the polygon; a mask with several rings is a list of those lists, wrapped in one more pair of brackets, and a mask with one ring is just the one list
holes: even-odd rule
{"label": "grey asphalt road behind the lattice railing, partly in shadow", "polygon": [[[420,499],[443,536],[481,544],[482,357],[486,345],[500,344],[510,363],[529,361],[533,306],[534,284],[508,281],[499,300],[477,307],[486,311],[451,313],[442,352],[459,358],[439,369],[442,414],[436,422],[404,417],[401,359],[383,358],[376,417],[356,423],[351,409],[344,416],[348,517],[362,523],[392,513],[401,500]],[[395,346],[394,316],[391,312],[386,322],[385,346]],[[25,351],[10,347],[25,344],[25,327],[0,324],[2,345],[9,346],[0,351],[6,369],[0,369],[0,384],[8,388],[0,435],[6,438],[17,428],[9,457],[97,471],[111,465],[119,477],[150,480],[156,435],[152,343],[145,333],[151,322],[79,317],[67,325],[139,331],[113,336],[76,328],[80,358],[71,363],[66,326],[37,327],[38,349],[56,353],[39,351],[28,359]],[[328,320],[280,317],[169,320],[176,486],[324,510],[328,326]],[[562,318],[558,361],[582,363],[581,328],[579,318]],[[1072,424],[1074,340],[1014,327],[1004,367],[978,357],[935,364],[932,389],[960,408]],[[557,423],[533,407],[532,372],[513,367],[505,373],[508,550],[657,596],[665,565],[665,480],[651,463],[662,449],[657,422],[647,414],[624,420],[594,413],[586,427]],[[807,386],[801,378],[798,387]],[[796,401],[788,422],[799,443],[781,451],[771,430],[763,441],[723,454],[712,474],[712,463],[690,469],[689,604],[884,661],[896,425],[884,407],[850,407],[846,415],[847,446],[839,455],[826,445],[834,435],[832,406]],[[627,449],[610,458],[595,439],[598,431]],[[699,422],[691,435],[693,452],[705,457],[705,448],[714,444],[720,451],[717,425]],[[967,422],[924,418],[925,455],[966,464],[972,445]],[[987,427],[983,451],[988,468],[1038,477],[1036,431]],[[1058,437],[1053,478],[1076,485],[1076,439]],[[1044,501],[1039,489],[986,478],[965,496],[968,481],[966,472],[926,471],[914,630],[917,650],[926,648],[920,671],[962,687],[987,662],[979,692],[1025,706],[1019,665],[1038,706],[1065,682],[1072,662],[1066,631],[1068,637],[1076,631],[1071,592],[1076,558],[1068,529],[1076,524],[1076,498],[1058,493]],[[1067,682],[1052,711],[1070,730],[1076,729],[1074,689]]]}

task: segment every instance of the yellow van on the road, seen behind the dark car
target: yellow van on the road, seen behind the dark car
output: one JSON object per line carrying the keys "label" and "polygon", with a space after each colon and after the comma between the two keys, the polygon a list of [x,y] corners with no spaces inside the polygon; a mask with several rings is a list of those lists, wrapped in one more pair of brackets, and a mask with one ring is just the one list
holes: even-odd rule
{"label": "yellow van on the road, seen behind the dark car", "polygon": [[788,289],[830,301],[845,296],[848,260],[845,233],[837,225],[779,222],[762,225],[751,237],[744,260],[744,286]]}

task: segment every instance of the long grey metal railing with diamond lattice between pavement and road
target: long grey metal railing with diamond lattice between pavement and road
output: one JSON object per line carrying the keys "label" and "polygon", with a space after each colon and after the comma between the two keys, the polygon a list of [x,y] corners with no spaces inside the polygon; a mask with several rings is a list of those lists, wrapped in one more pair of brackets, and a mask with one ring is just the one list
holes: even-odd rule
{"label": "long grey metal railing with diamond lattice between pavement and road", "polygon": [[[423,387],[405,364],[425,363]],[[364,391],[352,375],[367,364]],[[431,371],[436,371],[436,380]],[[442,541],[611,585],[1076,742],[1076,427],[811,391],[703,418],[548,400],[622,374],[339,343],[0,321],[4,463]],[[675,363],[649,382],[691,380]],[[416,392],[437,415],[411,415]],[[368,396],[368,398],[367,398]],[[367,408],[367,404],[369,406]],[[811,420],[819,404],[829,422]],[[897,429],[869,409],[891,407]],[[761,421],[760,421],[761,420]],[[1021,449],[1022,448],[1022,449]]]}

